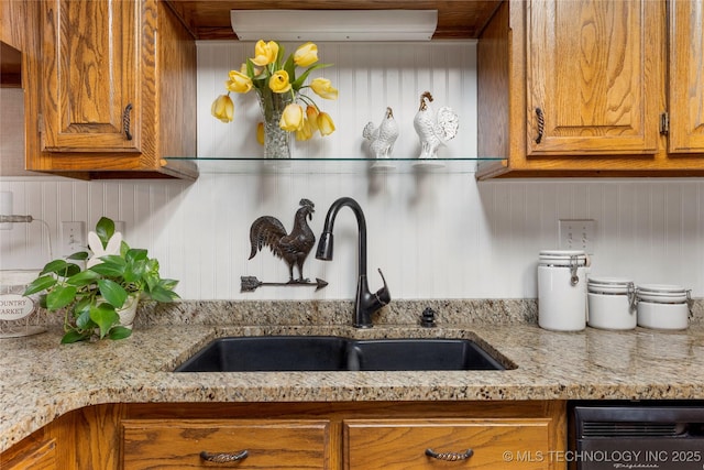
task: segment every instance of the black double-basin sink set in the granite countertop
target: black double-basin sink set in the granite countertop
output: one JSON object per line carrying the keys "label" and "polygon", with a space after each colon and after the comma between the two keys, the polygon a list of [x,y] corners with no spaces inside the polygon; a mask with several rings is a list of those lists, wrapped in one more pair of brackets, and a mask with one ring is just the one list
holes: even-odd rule
{"label": "black double-basin sink set in the granite countertop", "polygon": [[219,338],[175,372],[505,370],[468,339]]}

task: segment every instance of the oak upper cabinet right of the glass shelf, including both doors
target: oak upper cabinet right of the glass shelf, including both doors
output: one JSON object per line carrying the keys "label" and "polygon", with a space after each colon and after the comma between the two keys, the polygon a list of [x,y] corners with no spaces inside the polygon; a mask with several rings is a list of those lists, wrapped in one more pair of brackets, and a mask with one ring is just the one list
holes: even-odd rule
{"label": "oak upper cabinet right of the glass shelf, including both doors", "polygon": [[704,1],[507,1],[480,37],[480,178],[704,175]]}

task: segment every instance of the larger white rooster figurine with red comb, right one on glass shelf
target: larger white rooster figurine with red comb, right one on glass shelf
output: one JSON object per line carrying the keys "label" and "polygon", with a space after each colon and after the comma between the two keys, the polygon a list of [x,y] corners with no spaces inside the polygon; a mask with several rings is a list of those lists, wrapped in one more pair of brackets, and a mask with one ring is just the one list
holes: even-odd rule
{"label": "larger white rooster figurine with red comb, right one on glass shelf", "polygon": [[460,124],[457,112],[443,106],[436,113],[430,107],[432,95],[425,91],[420,95],[420,108],[414,118],[414,128],[420,138],[420,155],[418,159],[437,159],[438,147],[458,134]]}

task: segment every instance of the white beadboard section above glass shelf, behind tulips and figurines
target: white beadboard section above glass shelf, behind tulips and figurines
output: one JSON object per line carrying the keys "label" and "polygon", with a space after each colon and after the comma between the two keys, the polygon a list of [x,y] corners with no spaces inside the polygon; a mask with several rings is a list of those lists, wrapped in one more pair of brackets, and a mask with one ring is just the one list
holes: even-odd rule
{"label": "white beadboard section above glass shelf, behind tulips and figurines", "polygon": [[[284,43],[286,54],[297,44]],[[256,124],[262,120],[254,95],[230,94],[234,101],[234,120],[224,124],[210,116],[210,105],[226,94],[230,69],[240,69],[246,57],[254,55],[251,42],[198,43],[198,155],[261,155],[256,142]],[[314,70],[310,79],[326,77],[340,90],[339,99],[326,100],[307,91],[337,127],[331,135],[307,142],[294,141],[298,157],[365,156],[364,125],[378,124],[391,107],[399,125],[399,136],[392,156],[415,157],[419,154],[418,136],[413,121],[420,95],[429,90],[439,109],[450,106],[460,116],[459,135],[438,154],[444,157],[476,155],[476,43],[321,43],[319,62],[331,67]],[[296,201],[297,203],[297,201]]]}

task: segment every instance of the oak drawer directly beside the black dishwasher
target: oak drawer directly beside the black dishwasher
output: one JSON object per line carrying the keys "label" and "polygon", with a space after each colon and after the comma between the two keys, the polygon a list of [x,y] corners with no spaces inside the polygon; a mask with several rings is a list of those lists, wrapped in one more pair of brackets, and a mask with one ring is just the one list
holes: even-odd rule
{"label": "oak drawer directly beside the black dishwasher", "polygon": [[[349,419],[345,469],[551,469],[549,418]],[[426,450],[451,453],[454,461]],[[471,457],[463,457],[471,449]]]}

